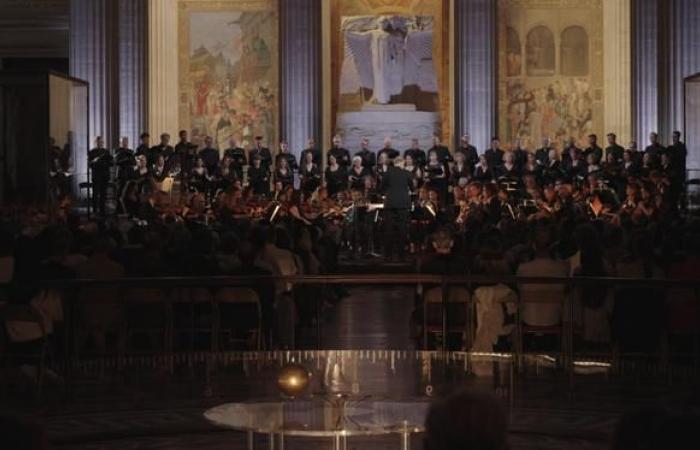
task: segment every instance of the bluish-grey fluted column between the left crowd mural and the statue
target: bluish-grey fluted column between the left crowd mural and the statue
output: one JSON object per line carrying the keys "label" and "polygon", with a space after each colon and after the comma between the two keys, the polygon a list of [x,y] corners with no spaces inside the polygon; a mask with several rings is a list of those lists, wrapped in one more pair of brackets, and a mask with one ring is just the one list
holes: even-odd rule
{"label": "bluish-grey fluted column between the left crowd mural and the statue", "polygon": [[321,139],[322,1],[280,2],[280,138],[297,155]]}

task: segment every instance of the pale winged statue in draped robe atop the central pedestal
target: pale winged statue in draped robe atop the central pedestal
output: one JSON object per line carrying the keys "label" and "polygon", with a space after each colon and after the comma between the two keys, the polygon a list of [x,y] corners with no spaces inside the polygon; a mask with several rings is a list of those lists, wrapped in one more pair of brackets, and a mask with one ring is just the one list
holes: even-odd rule
{"label": "pale winged statue in draped robe atop the central pedestal", "polygon": [[410,85],[437,92],[432,30],[423,30],[420,23],[409,28],[409,18],[402,16],[380,16],[375,25],[369,31],[345,31],[359,85],[373,92],[368,103],[389,104],[391,96]]}

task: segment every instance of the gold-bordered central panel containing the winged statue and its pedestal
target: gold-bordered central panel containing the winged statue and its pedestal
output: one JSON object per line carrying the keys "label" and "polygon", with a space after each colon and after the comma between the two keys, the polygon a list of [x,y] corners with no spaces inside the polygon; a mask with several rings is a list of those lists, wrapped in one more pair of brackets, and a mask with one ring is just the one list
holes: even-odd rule
{"label": "gold-bordered central panel containing the winged statue and its pedestal", "polygon": [[396,148],[449,136],[449,12],[443,0],[329,0],[330,127],[344,145]]}

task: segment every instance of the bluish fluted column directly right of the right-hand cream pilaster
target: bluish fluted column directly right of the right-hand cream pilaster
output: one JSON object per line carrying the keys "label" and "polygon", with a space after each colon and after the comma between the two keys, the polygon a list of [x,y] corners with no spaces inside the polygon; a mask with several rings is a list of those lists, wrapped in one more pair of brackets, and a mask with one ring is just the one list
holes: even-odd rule
{"label": "bluish fluted column directly right of the right-hand cream pilaster", "polygon": [[659,0],[635,0],[632,14],[634,135],[640,148],[659,129]]}

